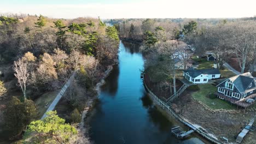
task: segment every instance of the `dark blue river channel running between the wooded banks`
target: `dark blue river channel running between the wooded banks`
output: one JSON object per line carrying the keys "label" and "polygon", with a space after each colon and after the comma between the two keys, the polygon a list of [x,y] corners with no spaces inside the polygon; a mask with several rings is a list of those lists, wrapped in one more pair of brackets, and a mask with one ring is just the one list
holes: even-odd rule
{"label": "dark blue river channel running between the wooded banks", "polygon": [[[120,43],[119,64],[102,86],[100,99],[90,118],[95,143],[179,143],[169,121],[152,104],[140,79],[144,60],[139,46]],[[194,136],[192,136],[194,137]]]}

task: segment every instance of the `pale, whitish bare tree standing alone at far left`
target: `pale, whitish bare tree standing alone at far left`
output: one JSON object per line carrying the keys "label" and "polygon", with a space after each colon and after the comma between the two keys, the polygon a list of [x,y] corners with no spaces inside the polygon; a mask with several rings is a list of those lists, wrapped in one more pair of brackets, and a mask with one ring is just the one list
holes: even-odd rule
{"label": "pale, whitish bare tree standing alone at far left", "polygon": [[27,70],[27,63],[19,59],[18,61],[14,62],[13,70],[15,71],[14,75],[18,79],[19,86],[24,95],[24,99],[26,99],[26,85],[28,76],[30,75]]}

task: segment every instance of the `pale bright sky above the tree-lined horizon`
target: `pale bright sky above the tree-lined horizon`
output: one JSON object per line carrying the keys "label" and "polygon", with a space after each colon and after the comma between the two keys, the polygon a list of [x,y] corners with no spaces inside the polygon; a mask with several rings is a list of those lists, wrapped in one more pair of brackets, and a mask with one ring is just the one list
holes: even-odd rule
{"label": "pale bright sky above the tree-lined horizon", "polygon": [[231,18],[256,15],[256,0],[0,0],[0,13],[53,18]]}

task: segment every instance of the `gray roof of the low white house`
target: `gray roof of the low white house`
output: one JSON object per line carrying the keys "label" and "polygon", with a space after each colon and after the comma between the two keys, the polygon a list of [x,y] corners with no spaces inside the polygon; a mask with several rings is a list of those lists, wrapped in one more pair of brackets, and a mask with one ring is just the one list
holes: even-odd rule
{"label": "gray roof of the low white house", "polygon": [[191,77],[197,77],[201,74],[205,74],[205,75],[214,75],[214,74],[220,74],[218,69],[193,69],[193,68],[189,68],[187,70],[183,70],[184,73],[188,73]]}

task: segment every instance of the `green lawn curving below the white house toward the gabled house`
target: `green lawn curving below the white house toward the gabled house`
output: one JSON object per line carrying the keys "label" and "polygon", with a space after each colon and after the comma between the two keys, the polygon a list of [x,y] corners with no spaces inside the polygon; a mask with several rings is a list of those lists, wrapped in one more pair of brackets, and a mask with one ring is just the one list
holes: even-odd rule
{"label": "green lawn curving below the white house toward the gabled house", "polygon": [[[202,103],[206,104],[207,106],[211,107],[211,109],[225,109],[225,110],[234,110],[236,109],[235,105],[230,105],[228,102],[218,99],[218,98],[208,98],[207,94],[209,92],[216,92],[217,87],[211,84],[202,84],[198,85],[200,90],[197,92],[192,93],[192,97],[195,100],[201,101]],[[214,103],[215,105],[213,105]]]}

